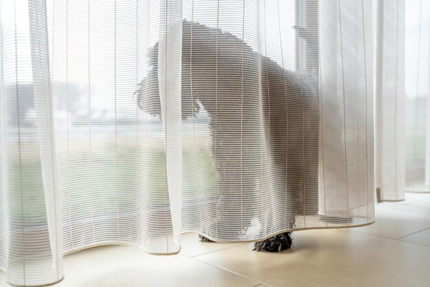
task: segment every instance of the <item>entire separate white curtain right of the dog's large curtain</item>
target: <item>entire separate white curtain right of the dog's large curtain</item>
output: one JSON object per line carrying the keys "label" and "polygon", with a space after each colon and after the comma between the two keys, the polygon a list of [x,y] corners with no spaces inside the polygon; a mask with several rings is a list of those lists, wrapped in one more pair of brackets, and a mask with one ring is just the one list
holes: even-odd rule
{"label": "entire separate white curtain right of the dog's large curtain", "polygon": [[378,200],[430,192],[430,1],[378,1]]}

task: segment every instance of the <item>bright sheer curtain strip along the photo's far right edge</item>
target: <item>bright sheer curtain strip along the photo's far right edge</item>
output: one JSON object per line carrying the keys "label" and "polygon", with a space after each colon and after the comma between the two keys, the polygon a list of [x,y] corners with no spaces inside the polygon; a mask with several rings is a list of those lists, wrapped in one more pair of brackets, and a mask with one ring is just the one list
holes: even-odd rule
{"label": "bright sheer curtain strip along the photo's far right edge", "polygon": [[430,1],[405,11],[406,191],[430,192]]}

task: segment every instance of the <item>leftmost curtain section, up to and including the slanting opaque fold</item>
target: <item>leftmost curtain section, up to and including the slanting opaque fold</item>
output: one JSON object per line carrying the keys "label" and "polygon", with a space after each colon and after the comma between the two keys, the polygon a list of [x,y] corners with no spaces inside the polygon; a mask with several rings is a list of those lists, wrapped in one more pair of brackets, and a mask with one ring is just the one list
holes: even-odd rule
{"label": "leftmost curtain section, up to and including the slanting opaque fold", "polygon": [[0,4],[1,266],[11,284],[38,286],[63,278],[45,2]]}

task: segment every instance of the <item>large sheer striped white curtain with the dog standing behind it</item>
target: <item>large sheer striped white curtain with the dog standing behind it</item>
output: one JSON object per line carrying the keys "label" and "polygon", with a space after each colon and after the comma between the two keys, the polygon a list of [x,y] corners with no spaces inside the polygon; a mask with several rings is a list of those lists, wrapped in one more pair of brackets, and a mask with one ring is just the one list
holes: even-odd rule
{"label": "large sheer striped white curtain with the dog standing behind it", "polygon": [[[0,268],[374,221],[371,0],[0,0]],[[251,251],[250,251],[251,252]]]}

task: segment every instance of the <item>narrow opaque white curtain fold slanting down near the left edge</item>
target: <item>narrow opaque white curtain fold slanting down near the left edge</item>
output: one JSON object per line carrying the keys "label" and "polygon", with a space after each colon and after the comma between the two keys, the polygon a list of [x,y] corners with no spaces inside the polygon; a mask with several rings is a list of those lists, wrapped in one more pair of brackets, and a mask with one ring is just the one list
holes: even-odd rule
{"label": "narrow opaque white curtain fold slanting down near the left edge", "polygon": [[[63,238],[60,225],[60,192],[56,164],[54,97],[49,66],[46,3],[44,0],[31,0],[28,2],[28,6],[29,19],[30,23],[32,23],[30,25],[32,84],[39,145],[39,150],[35,152],[38,152],[41,158],[43,195],[46,204],[49,246],[51,248],[50,257],[47,260],[51,264],[49,274],[38,274],[36,276],[41,281],[45,277],[53,277],[55,281],[60,281],[63,279]],[[22,161],[21,164],[23,164]],[[31,209],[29,211],[31,212]],[[32,278],[30,278],[30,282],[32,282]]]}

